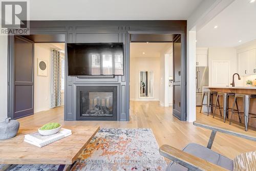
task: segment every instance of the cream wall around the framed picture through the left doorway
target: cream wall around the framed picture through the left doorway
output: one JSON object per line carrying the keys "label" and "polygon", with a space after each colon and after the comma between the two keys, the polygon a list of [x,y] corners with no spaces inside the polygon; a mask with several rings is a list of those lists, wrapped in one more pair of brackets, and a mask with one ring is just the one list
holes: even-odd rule
{"label": "cream wall around the framed picture through the left doorway", "polygon": [[[51,104],[51,49],[52,44],[36,43],[34,47],[34,113],[49,110]],[[37,60],[48,62],[48,76],[38,76]],[[61,105],[64,103],[64,92],[61,93]]]}

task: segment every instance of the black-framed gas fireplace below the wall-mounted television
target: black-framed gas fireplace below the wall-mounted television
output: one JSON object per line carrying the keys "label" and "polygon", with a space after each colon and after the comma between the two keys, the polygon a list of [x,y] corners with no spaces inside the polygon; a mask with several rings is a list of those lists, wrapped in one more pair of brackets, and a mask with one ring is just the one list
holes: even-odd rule
{"label": "black-framed gas fireplace below the wall-mounted television", "polygon": [[117,120],[116,86],[78,86],[77,120]]}

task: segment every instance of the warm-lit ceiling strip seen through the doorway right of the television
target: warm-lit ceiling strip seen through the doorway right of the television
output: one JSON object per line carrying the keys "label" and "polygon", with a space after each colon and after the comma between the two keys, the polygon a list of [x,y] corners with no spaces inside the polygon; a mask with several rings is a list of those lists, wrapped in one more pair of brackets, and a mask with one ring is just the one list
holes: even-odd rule
{"label": "warm-lit ceiling strip seen through the doorway right of the television", "polygon": [[[132,42],[130,44],[131,57],[160,57],[164,49],[172,48],[173,43],[144,43]],[[144,54],[143,54],[144,52]]]}

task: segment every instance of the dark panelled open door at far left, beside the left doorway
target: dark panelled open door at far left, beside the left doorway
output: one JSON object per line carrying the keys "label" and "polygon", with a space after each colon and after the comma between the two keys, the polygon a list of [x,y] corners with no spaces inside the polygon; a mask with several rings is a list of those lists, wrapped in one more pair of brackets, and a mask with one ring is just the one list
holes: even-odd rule
{"label": "dark panelled open door at far left, beside the left doorway", "polygon": [[13,119],[34,114],[34,42],[14,37]]}

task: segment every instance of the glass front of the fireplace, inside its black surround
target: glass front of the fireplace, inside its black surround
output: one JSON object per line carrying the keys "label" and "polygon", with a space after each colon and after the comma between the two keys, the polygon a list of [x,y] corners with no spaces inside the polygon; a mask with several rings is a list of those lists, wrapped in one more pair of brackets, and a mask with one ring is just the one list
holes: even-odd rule
{"label": "glass front of the fireplace, inside its black surround", "polygon": [[82,116],[113,116],[113,92],[82,91]]}

